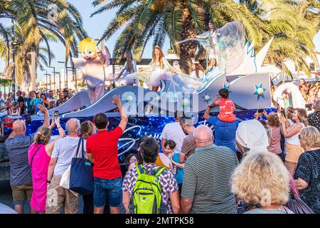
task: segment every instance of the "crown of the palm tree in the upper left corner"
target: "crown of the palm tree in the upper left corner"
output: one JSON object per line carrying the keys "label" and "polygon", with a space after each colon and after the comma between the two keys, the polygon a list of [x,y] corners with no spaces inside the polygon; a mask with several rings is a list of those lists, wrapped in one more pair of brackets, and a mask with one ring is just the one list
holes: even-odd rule
{"label": "crown of the palm tree in the upper left corner", "polygon": [[[70,57],[78,56],[78,40],[87,36],[82,28],[82,18],[78,10],[65,0],[2,0],[0,18],[14,19],[16,23],[20,36],[19,47],[16,50],[17,56],[23,56],[26,51],[35,51],[37,58],[48,65],[53,57],[49,46],[50,39],[55,37],[65,45],[65,64],[67,65]],[[9,52],[10,35],[1,23],[0,36],[4,38],[3,41]],[[39,46],[40,43],[45,44],[45,49]],[[10,58],[9,53],[7,56]],[[26,59],[24,62],[27,63]],[[28,68],[24,64],[23,66],[28,73]]]}

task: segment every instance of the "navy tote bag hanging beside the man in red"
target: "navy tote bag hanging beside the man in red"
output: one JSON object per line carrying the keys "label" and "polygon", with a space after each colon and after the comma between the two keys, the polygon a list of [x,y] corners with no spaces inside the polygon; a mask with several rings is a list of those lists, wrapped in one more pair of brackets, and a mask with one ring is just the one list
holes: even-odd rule
{"label": "navy tote bag hanging beside the man in red", "polygon": [[90,195],[93,193],[93,170],[89,160],[85,158],[85,149],[83,139],[80,138],[78,148],[82,145],[79,157],[79,150],[76,157],[73,157],[70,165],[70,185],[69,189],[78,192],[81,195]]}

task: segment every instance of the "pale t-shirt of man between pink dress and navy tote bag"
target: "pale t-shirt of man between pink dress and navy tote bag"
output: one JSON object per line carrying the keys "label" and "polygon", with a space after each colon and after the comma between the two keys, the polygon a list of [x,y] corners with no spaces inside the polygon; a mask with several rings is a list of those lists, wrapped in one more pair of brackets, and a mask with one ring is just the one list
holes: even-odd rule
{"label": "pale t-shirt of man between pink dress and navy tote bag", "polygon": [[[55,164],[55,170],[53,172],[53,175],[62,176],[65,170],[68,169],[69,165],[71,165],[71,161],[73,160],[73,157],[77,155],[79,140],[80,138],[78,137],[67,136],[55,142],[55,146],[53,147],[53,152],[51,157],[52,158],[58,157],[58,159],[57,159],[57,163]],[[83,147],[85,150],[85,140],[83,140],[83,142],[84,142]]]}

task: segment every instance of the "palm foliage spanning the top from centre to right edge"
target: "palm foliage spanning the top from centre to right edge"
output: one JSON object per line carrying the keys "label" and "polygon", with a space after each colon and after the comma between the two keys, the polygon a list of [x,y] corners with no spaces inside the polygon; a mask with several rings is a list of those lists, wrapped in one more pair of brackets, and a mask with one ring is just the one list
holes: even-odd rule
{"label": "palm foliage spanning the top from centre to right edge", "polygon": [[[92,5],[99,6],[92,16],[117,9],[101,39],[123,29],[114,48],[114,57],[118,59],[128,48],[134,50],[137,59],[141,58],[151,38],[154,45],[163,46],[169,37],[175,53],[180,54],[174,44],[191,33],[203,33],[210,19],[217,28],[230,21],[241,21],[247,38],[255,42],[256,52],[274,36],[266,62],[284,72],[288,72],[284,61],[291,60],[301,71],[309,73],[305,58],[315,58],[313,37],[320,25],[316,0],[241,0],[240,4],[233,0],[95,0]],[[183,10],[191,17],[183,16]]]}

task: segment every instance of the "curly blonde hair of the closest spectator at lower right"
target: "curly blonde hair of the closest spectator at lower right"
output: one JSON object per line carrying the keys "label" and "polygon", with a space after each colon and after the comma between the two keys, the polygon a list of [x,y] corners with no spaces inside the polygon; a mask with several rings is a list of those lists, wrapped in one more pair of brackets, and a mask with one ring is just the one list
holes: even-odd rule
{"label": "curly blonde hair of the closest spectator at lower right", "polygon": [[232,190],[247,204],[283,205],[289,199],[289,172],[274,153],[252,153],[235,169]]}

